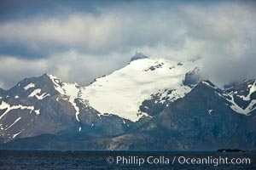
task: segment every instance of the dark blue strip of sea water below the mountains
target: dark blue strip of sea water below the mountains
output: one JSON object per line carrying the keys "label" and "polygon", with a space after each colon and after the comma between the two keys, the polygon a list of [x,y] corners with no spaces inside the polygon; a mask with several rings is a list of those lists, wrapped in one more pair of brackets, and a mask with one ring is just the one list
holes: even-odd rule
{"label": "dark blue strip of sea water below the mountains", "polygon": [[0,150],[0,169],[253,169],[256,152]]}

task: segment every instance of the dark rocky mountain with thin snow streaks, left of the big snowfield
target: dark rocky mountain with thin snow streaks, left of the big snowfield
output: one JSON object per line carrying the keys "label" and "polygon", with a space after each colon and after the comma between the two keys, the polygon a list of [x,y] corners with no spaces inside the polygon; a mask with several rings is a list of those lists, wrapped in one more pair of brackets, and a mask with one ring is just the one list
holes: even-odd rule
{"label": "dark rocky mountain with thin snow streaks, left of the big snowfield", "polygon": [[1,94],[0,139],[44,133],[104,136],[133,127],[133,122],[119,116],[102,117],[87,101],[79,99],[81,89],[76,83],[61,82],[49,74],[18,82]]}

